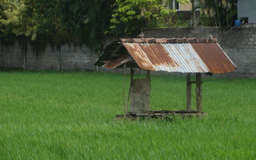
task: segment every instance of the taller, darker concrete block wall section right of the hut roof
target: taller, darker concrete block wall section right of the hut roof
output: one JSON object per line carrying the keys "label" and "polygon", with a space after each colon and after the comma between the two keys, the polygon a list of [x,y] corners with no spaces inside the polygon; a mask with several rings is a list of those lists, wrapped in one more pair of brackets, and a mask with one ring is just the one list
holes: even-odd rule
{"label": "taller, darker concrete block wall section right of the hut roof", "polygon": [[237,67],[228,77],[256,78],[256,24],[220,30],[220,46]]}

